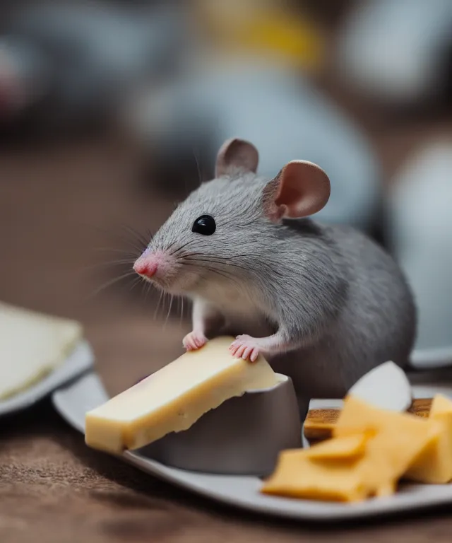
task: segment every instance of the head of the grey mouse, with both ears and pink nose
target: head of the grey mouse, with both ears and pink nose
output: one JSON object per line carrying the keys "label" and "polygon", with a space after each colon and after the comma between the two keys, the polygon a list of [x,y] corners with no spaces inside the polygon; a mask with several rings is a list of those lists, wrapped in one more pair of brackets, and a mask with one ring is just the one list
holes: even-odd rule
{"label": "head of the grey mouse, with both ears and pink nose", "polygon": [[225,141],[215,179],[177,206],[133,269],[172,293],[246,286],[271,274],[278,255],[290,250],[284,220],[320,211],[330,182],[319,166],[303,160],[288,163],[270,181],[256,175],[257,167],[252,144]]}

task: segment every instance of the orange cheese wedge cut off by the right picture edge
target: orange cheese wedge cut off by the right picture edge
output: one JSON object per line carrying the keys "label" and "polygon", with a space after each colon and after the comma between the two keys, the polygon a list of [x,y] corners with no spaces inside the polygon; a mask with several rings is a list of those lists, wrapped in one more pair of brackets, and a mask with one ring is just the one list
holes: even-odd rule
{"label": "orange cheese wedge cut off by the right picture edge", "polygon": [[[429,484],[444,484],[452,480],[452,401],[436,395],[430,409],[431,439],[412,462],[405,474],[407,479]],[[440,427],[440,432],[436,430]]]}

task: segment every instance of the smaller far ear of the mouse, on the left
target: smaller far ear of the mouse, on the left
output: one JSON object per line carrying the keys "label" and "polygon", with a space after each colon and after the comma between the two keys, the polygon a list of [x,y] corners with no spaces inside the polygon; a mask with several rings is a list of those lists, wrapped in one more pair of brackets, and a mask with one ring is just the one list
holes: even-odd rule
{"label": "smaller far ear of the mouse, on the left", "polygon": [[215,177],[237,170],[256,173],[259,154],[256,147],[244,139],[227,139],[220,147],[215,165]]}

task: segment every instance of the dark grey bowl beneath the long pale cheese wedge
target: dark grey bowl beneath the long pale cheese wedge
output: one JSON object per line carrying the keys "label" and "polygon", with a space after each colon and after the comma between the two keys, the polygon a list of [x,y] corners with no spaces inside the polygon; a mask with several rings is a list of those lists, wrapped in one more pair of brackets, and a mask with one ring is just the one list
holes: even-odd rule
{"label": "dark grey bowl beneath the long pale cheese wedge", "polygon": [[267,475],[278,452],[302,446],[302,422],[292,380],[246,392],[208,411],[186,431],[170,433],[141,448],[162,464],[228,475]]}

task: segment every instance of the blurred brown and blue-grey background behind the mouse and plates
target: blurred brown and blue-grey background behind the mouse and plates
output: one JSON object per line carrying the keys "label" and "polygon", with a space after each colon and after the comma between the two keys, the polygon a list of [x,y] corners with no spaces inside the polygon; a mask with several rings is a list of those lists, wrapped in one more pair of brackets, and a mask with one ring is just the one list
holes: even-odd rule
{"label": "blurred brown and blue-grey background behind the mouse and plates", "polygon": [[189,312],[131,274],[222,141],[331,178],[405,269],[420,358],[452,360],[452,3],[0,1],[0,299],[81,320],[115,393]]}

